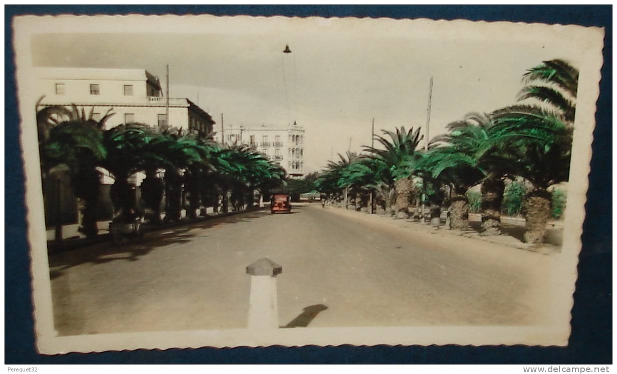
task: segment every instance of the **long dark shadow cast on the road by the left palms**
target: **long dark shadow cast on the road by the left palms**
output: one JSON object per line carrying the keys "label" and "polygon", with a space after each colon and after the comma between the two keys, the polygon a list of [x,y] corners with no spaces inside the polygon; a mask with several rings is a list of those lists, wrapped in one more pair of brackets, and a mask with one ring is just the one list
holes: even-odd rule
{"label": "long dark shadow cast on the road by the left palms", "polygon": [[150,232],[146,234],[144,241],[141,243],[114,246],[111,242],[106,242],[98,245],[85,246],[64,253],[50,254],[49,267],[52,269],[49,272],[49,277],[51,279],[60,277],[64,274],[64,270],[86,263],[98,265],[112,261],[138,261],[139,258],[156,248],[188,243],[191,242],[194,237],[207,236],[207,232],[204,235],[203,232],[197,232],[196,229],[210,229],[211,227],[219,225],[251,222],[254,219],[259,219],[266,215],[270,215],[270,212],[258,211],[253,212],[249,216],[239,214],[237,216],[215,218],[205,222],[189,223],[183,227]]}

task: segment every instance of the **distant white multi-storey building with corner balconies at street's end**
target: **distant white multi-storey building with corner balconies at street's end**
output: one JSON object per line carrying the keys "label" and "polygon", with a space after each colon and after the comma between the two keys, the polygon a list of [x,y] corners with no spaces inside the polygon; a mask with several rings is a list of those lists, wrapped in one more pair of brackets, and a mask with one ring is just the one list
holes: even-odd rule
{"label": "distant white multi-storey building with corner balconies at street's end", "polygon": [[295,121],[284,128],[265,124],[216,126],[214,139],[225,144],[249,145],[283,166],[289,176],[304,176],[304,126]]}

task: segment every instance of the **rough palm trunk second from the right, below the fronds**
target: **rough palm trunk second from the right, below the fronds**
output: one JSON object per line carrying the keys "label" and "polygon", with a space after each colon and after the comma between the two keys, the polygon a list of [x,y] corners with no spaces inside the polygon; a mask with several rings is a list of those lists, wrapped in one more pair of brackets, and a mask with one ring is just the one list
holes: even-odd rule
{"label": "rough palm trunk second from the right, below the fronds", "polygon": [[501,234],[501,205],[505,184],[503,179],[489,176],[481,185],[482,228],[480,235]]}

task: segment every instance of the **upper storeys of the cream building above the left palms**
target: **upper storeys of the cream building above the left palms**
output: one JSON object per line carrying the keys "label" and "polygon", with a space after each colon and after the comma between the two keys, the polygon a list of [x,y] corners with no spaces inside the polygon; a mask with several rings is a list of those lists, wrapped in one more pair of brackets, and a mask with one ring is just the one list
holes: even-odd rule
{"label": "upper storeys of the cream building above the left palms", "polygon": [[[100,119],[115,113],[106,127],[139,122],[157,126],[167,124],[167,98],[163,97],[159,78],[143,69],[36,68],[41,105],[77,105]],[[169,99],[170,126],[212,134],[215,122],[189,99]]]}

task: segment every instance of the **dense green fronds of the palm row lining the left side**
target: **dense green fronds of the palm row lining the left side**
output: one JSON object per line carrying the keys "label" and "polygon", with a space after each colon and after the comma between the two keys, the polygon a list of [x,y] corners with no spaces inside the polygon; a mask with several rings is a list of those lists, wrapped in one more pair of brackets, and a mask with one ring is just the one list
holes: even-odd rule
{"label": "dense green fronds of the palm row lining the left side", "polygon": [[[284,181],[283,168],[244,145],[224,147],[192,135],[184,136],[178,129],[151,128],[139,123],[103,131],[104,121],[111,114],[94,121],[92,112],[86,115],[83,108],[75,105],[70,110],[44,107],[37,112],[41,173],[45,175],[60,166],[68,169],[78,197],[96,198],[99,166],[114,176],[112,201],[115,208],[123,210],[135,204],[127,178],[138,172],[145,172],[150,178],[142,190],[150,208],[159,205],[163,188],[167,193],[178,193],[183,183],[190,190],[191,205],[197,207],[201,190],[207,190],[204,182],[218,184],[224,190],[231,187],[242,194],[247,189],[271,189]],[[164,187],[156,179],[160,169],[165,170]]]}

